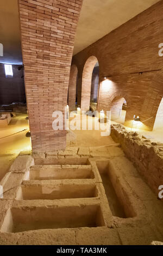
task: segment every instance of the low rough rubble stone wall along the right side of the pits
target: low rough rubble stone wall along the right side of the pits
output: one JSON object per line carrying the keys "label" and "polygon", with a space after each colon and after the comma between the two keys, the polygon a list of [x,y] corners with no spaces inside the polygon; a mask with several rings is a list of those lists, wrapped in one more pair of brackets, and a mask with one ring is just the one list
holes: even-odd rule
{"label": "low rough rubble stone wall along the right side of the pits", "polygon": [[111,126],[111,137],[122,145],[124,153],[158,195],[158,188],[163,185],[163,144],[151,142],[136,132],[127,132],[120,124]]}

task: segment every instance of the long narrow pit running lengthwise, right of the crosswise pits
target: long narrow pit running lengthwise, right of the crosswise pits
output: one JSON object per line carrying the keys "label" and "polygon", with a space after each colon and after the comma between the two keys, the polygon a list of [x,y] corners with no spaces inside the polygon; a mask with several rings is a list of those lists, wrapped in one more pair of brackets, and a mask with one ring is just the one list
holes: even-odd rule
{"label": "long narrow pit running lengthwise, right of the crosswise pits", "polygon": [[123,187],[117,182],[115,171],[111,168],[109,160],[98,161],[96,165],[103,181],[112,215],[120,218],[135,217],[133,207],[129,204]]}

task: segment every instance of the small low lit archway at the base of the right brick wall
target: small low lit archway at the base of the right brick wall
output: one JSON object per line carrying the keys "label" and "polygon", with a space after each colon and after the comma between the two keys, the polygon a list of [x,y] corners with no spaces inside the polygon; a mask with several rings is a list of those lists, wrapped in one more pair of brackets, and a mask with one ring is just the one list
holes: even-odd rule
{"label": "small low lit archway at the base of the right brick wall", "polygon": [[121,96],[115,97],[111,102],[111,121],[124,124],[126,118],[127,102]]}

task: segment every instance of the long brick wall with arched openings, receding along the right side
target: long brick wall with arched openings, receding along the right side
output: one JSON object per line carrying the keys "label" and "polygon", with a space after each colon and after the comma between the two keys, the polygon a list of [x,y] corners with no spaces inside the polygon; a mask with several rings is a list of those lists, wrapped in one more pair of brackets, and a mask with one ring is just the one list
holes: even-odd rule
{"label": "long brick wall with arched openings, receding along the right side", "polygon": [[[163,57],[159,56],[159,44],[163,41],[162,13],[161,0],[73,56],[80,87],[87,59],[90,56],[98,59],[98,110],[110,110],[112,100],[120,93],[128,106],[126,126],[131,126],[133,116],[139,115],[142,121],[147,120],[140,128],[153,129],[163,95]],[[81,95],[81,89],[78,92]]]}

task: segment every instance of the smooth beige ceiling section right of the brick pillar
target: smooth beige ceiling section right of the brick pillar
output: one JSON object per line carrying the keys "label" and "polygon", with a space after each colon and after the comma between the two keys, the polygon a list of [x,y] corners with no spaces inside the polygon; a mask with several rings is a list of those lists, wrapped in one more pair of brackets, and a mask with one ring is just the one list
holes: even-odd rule
{"label": "smooth beige ceiling section right of the brick pillar", "polygon": [[159,0],[84,0],[74,55]]}

